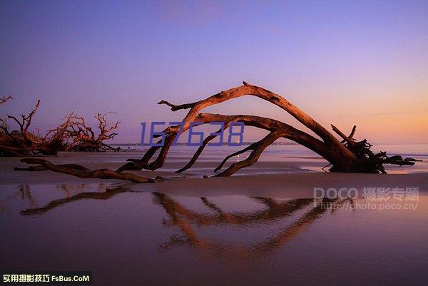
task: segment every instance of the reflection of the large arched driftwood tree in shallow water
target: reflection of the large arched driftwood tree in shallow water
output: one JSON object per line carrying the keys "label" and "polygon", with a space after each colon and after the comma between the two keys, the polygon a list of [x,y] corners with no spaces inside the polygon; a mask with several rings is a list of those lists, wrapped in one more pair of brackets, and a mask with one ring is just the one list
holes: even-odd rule
{"label": "reflection of the large arched driftwood tree in shallow water", "polygon": [[[223,211],[218,205],[210,202],[207,198],[200,198],[204,205],[215,212],[212,214],[196,213],[178,203],[173,198],[163,193],[153,193],[156,196],[156,203],[161,205],[170,217],[170,222],[164,222],[166,225],[174,225],[180,228],[184,237],[173,236],[170,242],[161,245],[161,248],[168,248],[173,245],[188,245],[202,250],[204,253],[213,252],[213,254],[224,253],[228,256],[248,257],[248,255],[267,255],[268,253],[280,249],[287,241],[292,240],[298,233],[305,230],[309,225],[315,222],[322,213],[327,210],[334,210],[332,206],[343,204],[347,201],[352,203],[351,199],[327,199],[315,202],[310,198],[289,200],[287,202],[278,202],[272,198],[253,198],[263,203],[267,208],[251,212],[232,212]],[[306,210],[295,222],[282,228],[276,235],[272,235],[262,242],[245,243],[244,245],[230,245],[227,242],[219,242],[212,239],[202,238],[193,227],[208,225],[249,225],[267,223],[269,220],[278,220],[286,218],[297,210]]]}

